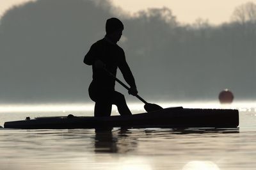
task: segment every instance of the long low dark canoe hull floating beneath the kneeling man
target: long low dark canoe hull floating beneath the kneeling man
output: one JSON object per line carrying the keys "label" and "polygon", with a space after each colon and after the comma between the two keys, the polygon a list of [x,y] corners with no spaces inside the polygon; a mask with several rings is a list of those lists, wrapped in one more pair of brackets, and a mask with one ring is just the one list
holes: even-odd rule
{"label": "long low dark canoe hull floating beneath the kneeling man", "polygon": [[170,128],[236,128],[239,112],[232,109],[173,109],[143,112],[131,116],[57,116],[32,120],[9,121],[4,128],[105,128],[105,127],[170,127]]}

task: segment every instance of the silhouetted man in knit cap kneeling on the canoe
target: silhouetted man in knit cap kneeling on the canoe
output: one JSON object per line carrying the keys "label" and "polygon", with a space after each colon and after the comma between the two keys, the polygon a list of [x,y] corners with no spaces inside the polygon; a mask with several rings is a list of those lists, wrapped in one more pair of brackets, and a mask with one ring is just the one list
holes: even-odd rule
{"label": "silhouetted man in knit cap kneeling on the canoe", "polygon": [[93,70],[89,95],[95,102],[94,116],[110,116],[112,104],[117,106],[121,115],[131,115],[124,95],[115,91],[115,79],[106,71],[116,75],[116,70],[119,68],[125,81],[131,86],[129,94],[136,95],[138,93],[134,77],[125,60],[124,50],[116,44],[120,40],[123,30],[124,25],[119,19],[108,19],[106,36],[93,43],[84,56],[84,63],[92,65]]}

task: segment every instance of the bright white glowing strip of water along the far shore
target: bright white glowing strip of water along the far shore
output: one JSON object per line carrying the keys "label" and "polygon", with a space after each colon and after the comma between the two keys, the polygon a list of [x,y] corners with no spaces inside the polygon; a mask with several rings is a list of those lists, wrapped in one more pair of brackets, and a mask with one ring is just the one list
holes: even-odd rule
{"label": "bright white glowing strip of water along the far shore", "polygon": [[[233,104],[220,104],[216,101],[196,101],[196,102],[156,102],[157,105],[161,105],[163,108],[167,107],[178,107],[182,106],[184,108],[209,108],[209,109],[243,109],[241,111],[252,110],[255,102],[253,101],[241,101],[234,102]],[[131,107],[133,111],[143,112],[142,102],[128,102],[127,105]],[[1,104],[0,112],[88,112],[93,111],[94,103],[48,103],[48,104]],[[115,105],[113,105],[113,110],[116,111]]]}

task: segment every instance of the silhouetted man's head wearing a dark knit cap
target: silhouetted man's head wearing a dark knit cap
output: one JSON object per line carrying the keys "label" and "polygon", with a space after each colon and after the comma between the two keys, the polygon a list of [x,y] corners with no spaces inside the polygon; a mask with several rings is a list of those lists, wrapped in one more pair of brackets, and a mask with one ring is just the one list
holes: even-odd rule
{"label": "silhouetted man's head wearing a dark knit cap", "polygon": [[122,36],[124,24],[116,18],[108,19],[106,22],[106,35],[113,41],[118,42]]}

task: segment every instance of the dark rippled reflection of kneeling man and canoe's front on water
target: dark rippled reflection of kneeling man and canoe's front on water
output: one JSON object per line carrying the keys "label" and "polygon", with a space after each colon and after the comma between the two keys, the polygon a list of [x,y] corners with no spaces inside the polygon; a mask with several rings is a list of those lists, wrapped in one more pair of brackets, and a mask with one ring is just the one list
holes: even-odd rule
{"label": "dark rippled reflection of kneeling man and canoe's front on water", "polygon": [[[134,129],[133,129],[134,130]],[[120,128],[117,133],[113,128],[95,129],[95,153],[127,153],[136,150],[138,137],[165,134],[166,136],[184,134],[230,134],[239,133],[239,128],[145,128],[132,135],[132,129]],[[161,135],[159,135],[161,136]],[[155,136],[156,137],[156,136]]]}

